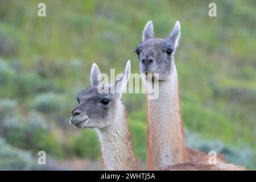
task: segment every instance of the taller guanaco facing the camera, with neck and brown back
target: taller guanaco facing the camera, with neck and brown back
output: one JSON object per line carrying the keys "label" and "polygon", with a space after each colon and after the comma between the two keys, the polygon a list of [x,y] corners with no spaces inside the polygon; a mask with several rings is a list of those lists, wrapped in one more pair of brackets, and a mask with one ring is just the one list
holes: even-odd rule
{"label": "taller guanaco facing the camera, with neck and brown back", "polygon": [[[154,38],[152,21],[147,22],[142,43],[135,50],[141,73],[153,73],[159,81],[159,97],[147,98],[147,169],[224,169],[243,167],[226,164],[224,156],[217,155],[217,164],[209,165],[211,156],[185,146],[183,122],[180,115],[177,71],[174,54],[180,38],[180,23],[167,39]],[[147,84],[155,80],[145,80]]]}

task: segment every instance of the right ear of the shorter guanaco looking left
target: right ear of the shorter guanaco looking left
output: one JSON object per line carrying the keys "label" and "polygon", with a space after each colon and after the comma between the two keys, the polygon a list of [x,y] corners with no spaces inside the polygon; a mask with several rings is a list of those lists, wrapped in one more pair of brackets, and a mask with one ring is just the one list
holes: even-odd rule
{"label": "right ear of the shorter guanaco looking left", "polygon": [[118,98],[121,98],[122,92],[125,90],[127,82],[129,81],[131,72],[131,63],[130,60],[127,61],[125,71],[122,73],[120,77],[115,80],[115,94],[117,94]]}

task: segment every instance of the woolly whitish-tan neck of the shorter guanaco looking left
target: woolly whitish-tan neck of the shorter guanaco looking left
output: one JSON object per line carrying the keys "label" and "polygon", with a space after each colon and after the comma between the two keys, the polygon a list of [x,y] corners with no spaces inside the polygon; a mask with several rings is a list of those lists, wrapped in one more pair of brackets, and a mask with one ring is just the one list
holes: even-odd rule
{"label": "woolly whitish-tan neck of the shorter guanaco looking left", "polygon": [[104,166],[107,170],[138,169],[122,105],[112,125],[97,129],[97,132],[100,137]]}

